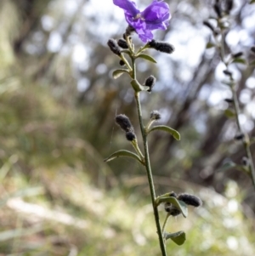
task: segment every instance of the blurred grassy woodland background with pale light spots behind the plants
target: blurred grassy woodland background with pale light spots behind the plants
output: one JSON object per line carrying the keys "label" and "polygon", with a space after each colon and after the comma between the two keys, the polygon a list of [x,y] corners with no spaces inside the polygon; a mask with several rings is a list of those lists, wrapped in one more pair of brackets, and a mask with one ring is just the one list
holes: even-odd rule
{"label": "blurred grassy woodland background with pale light spots behind the plants", "polygon": [[[157,65],[138,63],[139,81],[157,77],[154,92],[142,94],[144,119],[158,110],[182,137],[150,136],[156,194],[203,201],[187,219],[170,219],[167,230],[184,230],[187,241],[168,242],[167,252],[252,256],[252,183],[235,168],[218,171],[245,152],[233,139],[235,120],[224,116],[224,66],[206,48],[211,31],[202,22],[215,16],[212,1],[166,2],[173,17],[155,36],[176,50],[151,51]],[[137,3],[143,9],[150,0]],[[236,0],[231,17],[229,52],[254,58],[254,4]],[[106,47],[125,31],[122,9],[111,0],[1,0],[0,24],[0,255],[161,255],[144,168],[104,162],[132,150],[116,114],[126,114],[140,138],[133,89],[127,77],[111,77],[118,60]],[[232,71],[241,124],[254,136],[254,70]]]}

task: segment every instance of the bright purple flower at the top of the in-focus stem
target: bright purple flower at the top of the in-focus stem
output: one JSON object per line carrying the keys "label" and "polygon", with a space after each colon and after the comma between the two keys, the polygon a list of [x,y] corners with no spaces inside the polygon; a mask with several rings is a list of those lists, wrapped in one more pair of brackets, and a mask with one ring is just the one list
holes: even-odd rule
{"label": "bright purple flower at the top of the in-focus stem", "polygon": [[162,0],[153,0],[143,12],[140,12],[131,0],[113,0],[113,3],[124,10],[127,23],[134,28],[144,43],[153,39],[151,31],[166,30],[169,25],[169,6]]}

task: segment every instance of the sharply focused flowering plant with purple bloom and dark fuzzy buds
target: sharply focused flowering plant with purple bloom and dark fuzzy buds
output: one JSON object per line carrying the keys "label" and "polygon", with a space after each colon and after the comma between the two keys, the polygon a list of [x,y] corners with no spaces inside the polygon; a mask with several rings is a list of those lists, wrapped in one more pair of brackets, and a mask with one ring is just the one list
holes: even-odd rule
{"label": "sharply focused flowering plant with purple bloom and dark fuzzy buds", "polygon": [[[161,114],[159,111],[151,111],[150,120],[147,122],[146,125],[144,125],[142,109],[139,100],[139,94],[142,91],[153,91],[153,87],[156,84],[156,77],[147,77],[144,83],[141,84],[137,78],[135,61],[141,58],[146,61],[156,63],[156,60],[154,60],[150,55],[144,54],[144,51],[148,48],[154,48],[166,54],[172,54],[174,50],[172,44],[158,42],[152,39],[153,35],[151,33],[151,31],[155,29],[167,29],[167,25],[170,19],[169,7],[167,3],[154,0],[153,3],[150,4],[150,6],[144,9],[143,12],[140,12],[139,9],[136,8],[136,5],[135,3],[133,3],[133,1],[113,0],[113,3],[115,3],[118,7],[124,9],[128,26],[122,39],[119,39],[118,41],[116,41],[115,39],[109,39],[108,41],[109,48],[121,59],[119,64],[123,67],[122,69],[117,69],[116,71],[113,71],[112,76],[114,78],[118,78],[121,77],[122,74],[126,73],[127,75],[129,75],[129,77],[131,77],[130,83],[134,90],[134,98],[136,100],[138,110],[139,126],[143,138],[144,152],[141,151],[139,148],[135,129],[133,128],[133,125],[130,122],[129,118],[123,114],[117,115],[115,118],[116,124],[118,124],[120,128],[122,128],[122,130],[125,132],[126,139],[130,141],[130,143],[133,145],[135,152],[126,150],[116,151],[112,153],[111,156],[107,157],[105,159],[105,162],[110,162],[117,157],[132,157],[134,160],[138,161],[141,165],[143,165],[146,169],[148,183],[150,186],[152,208],[156,222],[156,231],[161,247],[161,255],[167,256],[167,239],[171,239],[178,245],[182,245],[185,241],[184,231],[178,231],[174,233],[165,231],[167,227],[167,219],[170,216],[177,216],[179,214],[182,214],[184,218],[186,218],[188,214],[187,205],[191,205],[193,207],[199,207],[201,205],[200,198],[186,193],[177,195],[174,192],[168,192],[164,195],[156,196],[153,176],[150,168],[150,154],[147,137],[149,134],[156,130],[167,132],[168,134],[173,135],[174,139],[177,140],[180,139],[180,134],[178,134],[178,131],[165,125],[154,125],[155,122],[161,119]],[[134,45],[132,43],[132,31],[136,31],[140,39],[144,43],[146,43],[143,47],[139,48],[138,51],[135,51]],[[127,60],[126,57],[128,57],[130,60]],[[167,213],[162,226],[160,223],[160,214],[158,211],[158,207],[161,205],[161,203],[164,203],[165,212]]]}

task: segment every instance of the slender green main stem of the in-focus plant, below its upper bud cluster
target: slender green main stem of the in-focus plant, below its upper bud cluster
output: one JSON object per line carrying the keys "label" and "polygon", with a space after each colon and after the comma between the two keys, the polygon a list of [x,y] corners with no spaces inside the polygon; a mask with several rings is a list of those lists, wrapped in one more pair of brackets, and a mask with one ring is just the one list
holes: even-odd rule
{"label": "slender green main stem of the in-focus plant, below its upper bud cluster", "polygon": [[[133,70],[133,73],[135,73],[134,70]],[[142,133],[143,141],[144,141],[145,168],[146,168],[147,178],[148,178],[148,182],[149,182],[149,186],[150,186],[150,196],[151,196],[151,202],[153,205],[153,212],[154,212],[154,217],[155,217],[155,222],[156,222],[156,230],[157,230],[157,234],[158,234],[158,238],[159,238],[159,242],[160,242],[162,256],[167,256],[165,242],[164,242],[164,238],[163,238],[162,232],[161,232],[159,213],[158,213],[158,209],[156,206],[156,193],[155,193],[153,177],[152,177],[151,168],[150,168],[150,156],[149,156],[147,134],[145,133],[144,123],[142,120],[142,111],[141,111],[141,105],[140,105],[140,100],[139,100],[139,93],[135,92],[134,96],[135,96],[135,100],[137,103],[137,109],[138,109],[138,113],[139,113],[139,125],[141,128],[141,133]]]}

